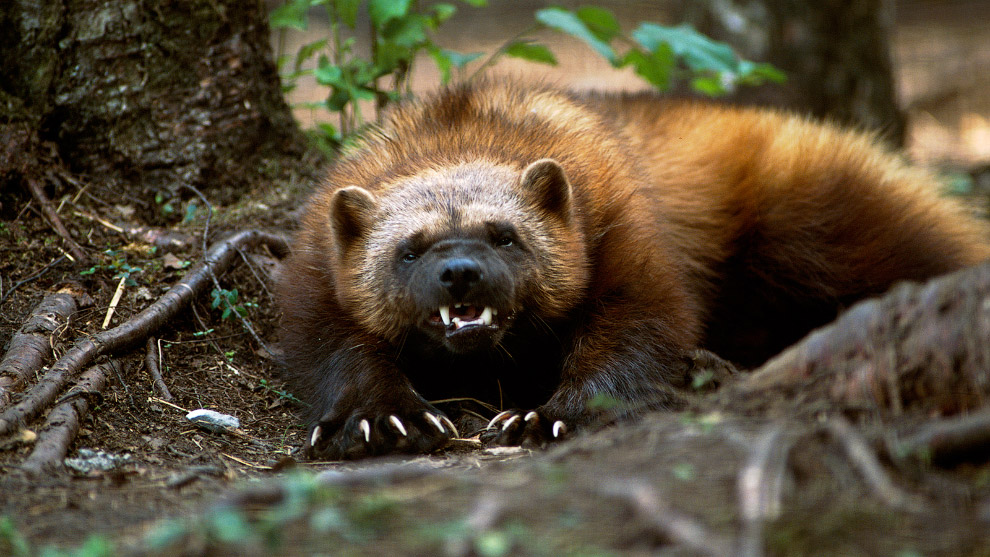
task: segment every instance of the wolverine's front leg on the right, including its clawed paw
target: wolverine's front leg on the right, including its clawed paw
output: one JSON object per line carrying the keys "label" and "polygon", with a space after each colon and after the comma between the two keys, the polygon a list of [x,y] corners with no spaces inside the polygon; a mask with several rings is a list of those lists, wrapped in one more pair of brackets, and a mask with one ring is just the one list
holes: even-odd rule
{"label": "wolverine's front leg on the right, including its clawed paw", "polygon": [[[676,405],[674,388],[684,383],[691,353],[685,335],[664,316],[608,309],[575,335],[560,385],[546,404],[502,412],[489,423],[495,443],[544,446],[593,422]],[[589,408],[589,401],[599,395],[615,405]]]}

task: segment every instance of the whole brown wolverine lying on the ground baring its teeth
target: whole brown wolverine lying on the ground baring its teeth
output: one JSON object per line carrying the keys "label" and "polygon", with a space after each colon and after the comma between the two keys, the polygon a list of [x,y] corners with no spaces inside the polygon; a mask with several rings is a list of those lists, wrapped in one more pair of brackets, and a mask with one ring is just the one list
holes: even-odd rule
{"label": "whole brown wolverine lying on the ground baring its teeth", "polygon": [[401,103],[337,160],[280,275],[306,451],[429,452],[430,400],[499,444],[661,409],[704,348],[756,365],[899,280],[990,256],[867,134],[787,113],[488,81]]}

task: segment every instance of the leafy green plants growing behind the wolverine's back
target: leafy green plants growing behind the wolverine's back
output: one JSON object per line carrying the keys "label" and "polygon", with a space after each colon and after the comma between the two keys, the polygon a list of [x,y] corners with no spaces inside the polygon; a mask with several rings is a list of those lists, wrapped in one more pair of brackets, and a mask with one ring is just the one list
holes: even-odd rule
{"label": "leafy green plants growing behind the wolverine's back", "polygon": [[[487,4],[487,0],[462,1],[475,7]],[[361,57],[354,49],[362,5],[366,6],[369,20],[368,58]],[[365,123],[362,101],[374,101],[375,119],[378,119],[388,103],[411,94],[409,76],[418,54],[429,54],[444,83],[455,70],[463,78],[472,79],[502,56],[555,65],[553,52],[533,38],[534,33],[546,29],[584,41],[612,66],[632,67],[661,91],[687,81],[696,91],[720,95],[741,85],[784,80],[784,75],[769,64],[740,59],[730,46],[709,39],[690,25],[669,27],[643,22],[626,34],[611,11],[594,6],[538,10],[532,26],[506,41],[465,77],[466,66],[481,53],[462,54],[443,49],[432,38],[456,13],[454,4],[436,2],[423,6],[415,0],[288,0],[271,12],[271,26],[280,30],[284,40],[286,31],[307,28],[312,7],[322,7],[326,12],[329,37],[303,45],[295,56],[280,54],[278,63],[285,92],[293,90],[304,78],[312,78],[329,88],[325,100],[302,104],[313,110],[325,109],[338,117],[335,121],[339,128],[321,123],[310,132],[317,144],[328,151],[340,147],[350,133]],[[316,63],[311,67],[314,57]],[[166,204],[165,209],[171,207]]]}

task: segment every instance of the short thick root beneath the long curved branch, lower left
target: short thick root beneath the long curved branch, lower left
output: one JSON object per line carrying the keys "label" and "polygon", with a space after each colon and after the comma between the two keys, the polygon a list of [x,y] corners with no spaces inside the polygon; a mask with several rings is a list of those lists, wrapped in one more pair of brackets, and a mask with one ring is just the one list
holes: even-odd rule
{"label": "short thick root beneath the long curved branch, lower left", "polygon": [[117,363],[110,360],[105,364],[86,370],[69,393],[48,414],[45,426],[38,434],[34,450],[21,466],[32,476],[41,476],[59,471],[69,453],[69,446],[79,433],[79,424],[89,413],[89,397],[103,392],[109,374]]}

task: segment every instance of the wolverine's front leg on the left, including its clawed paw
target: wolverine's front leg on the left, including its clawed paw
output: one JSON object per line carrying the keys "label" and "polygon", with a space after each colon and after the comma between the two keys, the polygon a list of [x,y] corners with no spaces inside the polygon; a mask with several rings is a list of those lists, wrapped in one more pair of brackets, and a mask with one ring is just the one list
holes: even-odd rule
{"label": "wolverine's front leg on the left, including its clawed paw", "polygon": [[427,453],[458,435],[447,416],[368,345],[336,350],[321,368],[311,411],[316,423],[304,447],[310,458]]}

